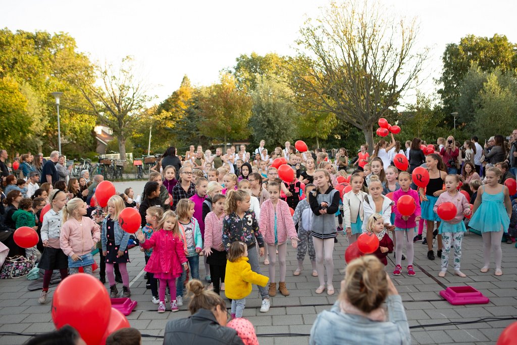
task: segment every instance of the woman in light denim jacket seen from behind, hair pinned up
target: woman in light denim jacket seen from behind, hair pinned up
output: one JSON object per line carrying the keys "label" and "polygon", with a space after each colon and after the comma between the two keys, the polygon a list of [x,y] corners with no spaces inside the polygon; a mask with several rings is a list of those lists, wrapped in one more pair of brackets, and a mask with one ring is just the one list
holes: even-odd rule
{"label": "woman in light denim jacket seen from behind, hair pinned up", "polygon": [[309,339],[311,345],[410,343],[402,298],[384,265],[371,255],[348,264],[338,300],[330,310],[318,314]]}

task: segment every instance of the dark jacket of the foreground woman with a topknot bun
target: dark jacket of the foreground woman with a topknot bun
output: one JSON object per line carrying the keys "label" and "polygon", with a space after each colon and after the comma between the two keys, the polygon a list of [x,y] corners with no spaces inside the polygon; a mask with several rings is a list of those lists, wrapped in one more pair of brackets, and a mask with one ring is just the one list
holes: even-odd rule
{"label": "dark jacket of the foreground woman with a topknot bun", "polygon": [[165,327],[163,344],[244,345],[235,329],[221,326],[207,309],[200,309],[185,319],[169,321]]}

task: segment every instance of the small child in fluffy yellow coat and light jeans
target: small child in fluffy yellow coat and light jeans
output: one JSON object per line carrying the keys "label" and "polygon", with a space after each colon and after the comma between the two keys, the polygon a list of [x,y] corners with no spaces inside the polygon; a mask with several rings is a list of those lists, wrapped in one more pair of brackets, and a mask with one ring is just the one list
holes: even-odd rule
{"label": "small child in fluffy yellow coat and light jeans", "polygon": [[224,294],[232,300],[232,319],[242,318],[246,296],[251,293],[251,284],[265,287],[266,276],[252,271],[248,262],[248,246],[244,242],[234,242],[230,246],[226,263],[226,290]]}

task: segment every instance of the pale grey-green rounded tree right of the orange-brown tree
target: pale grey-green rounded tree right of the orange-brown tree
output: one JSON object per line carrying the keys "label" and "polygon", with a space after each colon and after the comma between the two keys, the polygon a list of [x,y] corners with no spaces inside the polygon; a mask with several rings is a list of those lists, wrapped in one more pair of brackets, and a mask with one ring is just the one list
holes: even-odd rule
{"label": "pale grey-green rounded tree right of the orange-brown tree", "polygon": [[252,92],[253,106],[249,126],[254,141],[280,145],[297,136],[299,113],[294,104],[285,100],[290,93],[285,85],[261,78]]}

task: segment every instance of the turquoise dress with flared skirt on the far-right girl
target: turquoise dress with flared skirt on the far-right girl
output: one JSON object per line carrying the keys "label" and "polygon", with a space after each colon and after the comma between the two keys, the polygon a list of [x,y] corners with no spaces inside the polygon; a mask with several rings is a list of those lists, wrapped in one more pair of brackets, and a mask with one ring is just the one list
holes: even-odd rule
{"label": "turquoise dress with flared skirt on the far-right girl", "polygon": [[480,232],[498,232],[503,227],[508,232],[510,218],[506,213],[504,188],[497,194],[481,194],[481,205],[470,219],[468,226]]}

